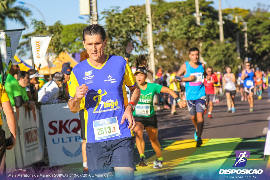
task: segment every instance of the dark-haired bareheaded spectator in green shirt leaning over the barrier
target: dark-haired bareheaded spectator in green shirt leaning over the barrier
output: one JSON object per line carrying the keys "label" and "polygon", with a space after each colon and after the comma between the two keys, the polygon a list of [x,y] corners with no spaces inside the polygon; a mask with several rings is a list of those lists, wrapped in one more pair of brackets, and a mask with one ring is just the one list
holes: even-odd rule
{"label": "dark-haired bareheaded spectator in green shirt leaning over the barrier", "polygon": [[26,71],[19,71],[17,79],[20,85],[20,91],[22,94],[22,106],[26,107],[28,110],[32,110],[32,107],[35,105],[34,101],[29,101],[25,87],[29,86],[30,78],[29,73]]}

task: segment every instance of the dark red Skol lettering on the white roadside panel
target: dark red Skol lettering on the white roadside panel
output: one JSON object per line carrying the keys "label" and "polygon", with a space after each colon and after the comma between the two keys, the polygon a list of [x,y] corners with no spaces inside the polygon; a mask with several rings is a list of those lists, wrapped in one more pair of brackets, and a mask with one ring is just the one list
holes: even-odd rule
{"label": "dark red Skol lettering on the white roadside panel", "polygon": [[52,130],[52,132],[49,131],[49,135],[62,134],[63,131],[68,134],[78,134],[78,131],[81,128],[81,123],[79,119],[50,121],[49,128]]}

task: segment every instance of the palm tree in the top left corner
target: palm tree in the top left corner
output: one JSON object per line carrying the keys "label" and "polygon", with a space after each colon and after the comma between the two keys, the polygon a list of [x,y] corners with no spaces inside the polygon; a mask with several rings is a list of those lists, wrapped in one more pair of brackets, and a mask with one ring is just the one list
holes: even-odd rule
{"label": "palm tree in the top left corner", "polygon": [[30,16],[31,11],[22,6],[13,6],[15,1],[16,0],[0,0],[0,29],[2,30],[6,28],[7,19],[15,20],[25,27],[28,27],[24,16]]}

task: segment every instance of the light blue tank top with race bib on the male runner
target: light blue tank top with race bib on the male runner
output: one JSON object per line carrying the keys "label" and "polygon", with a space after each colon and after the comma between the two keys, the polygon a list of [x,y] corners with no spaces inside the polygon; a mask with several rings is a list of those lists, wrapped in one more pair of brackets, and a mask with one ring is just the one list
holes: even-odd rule
{"label": "light blue tank top with race bib on the male runner", "polygon": [[199,66],[194,69],[190,66],[190,64],[185,62],[187,66],[187,74],[184,77],[189,77],[190,75],[194,75],[195,79],[193,81],[187,81],[185,90],[186,90],[186,98],[187,100],[197,100],[205,96],[205,87],[203,84],[204,81],[204,69],[202,63],[199,62]]}

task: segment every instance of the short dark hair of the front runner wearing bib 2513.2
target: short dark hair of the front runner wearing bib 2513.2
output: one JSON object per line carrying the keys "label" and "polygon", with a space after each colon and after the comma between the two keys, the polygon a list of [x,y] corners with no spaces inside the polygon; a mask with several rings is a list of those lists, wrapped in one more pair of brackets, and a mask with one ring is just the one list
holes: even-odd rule
{"label": "short dark hair of the front runner wearing bib 2513.2", "polygon": [[106,32],[104,28],[98,24],[92,24],[83,28],[83,41],[85,41],[85,35],[100,35],[103,41],[106,39]]}

